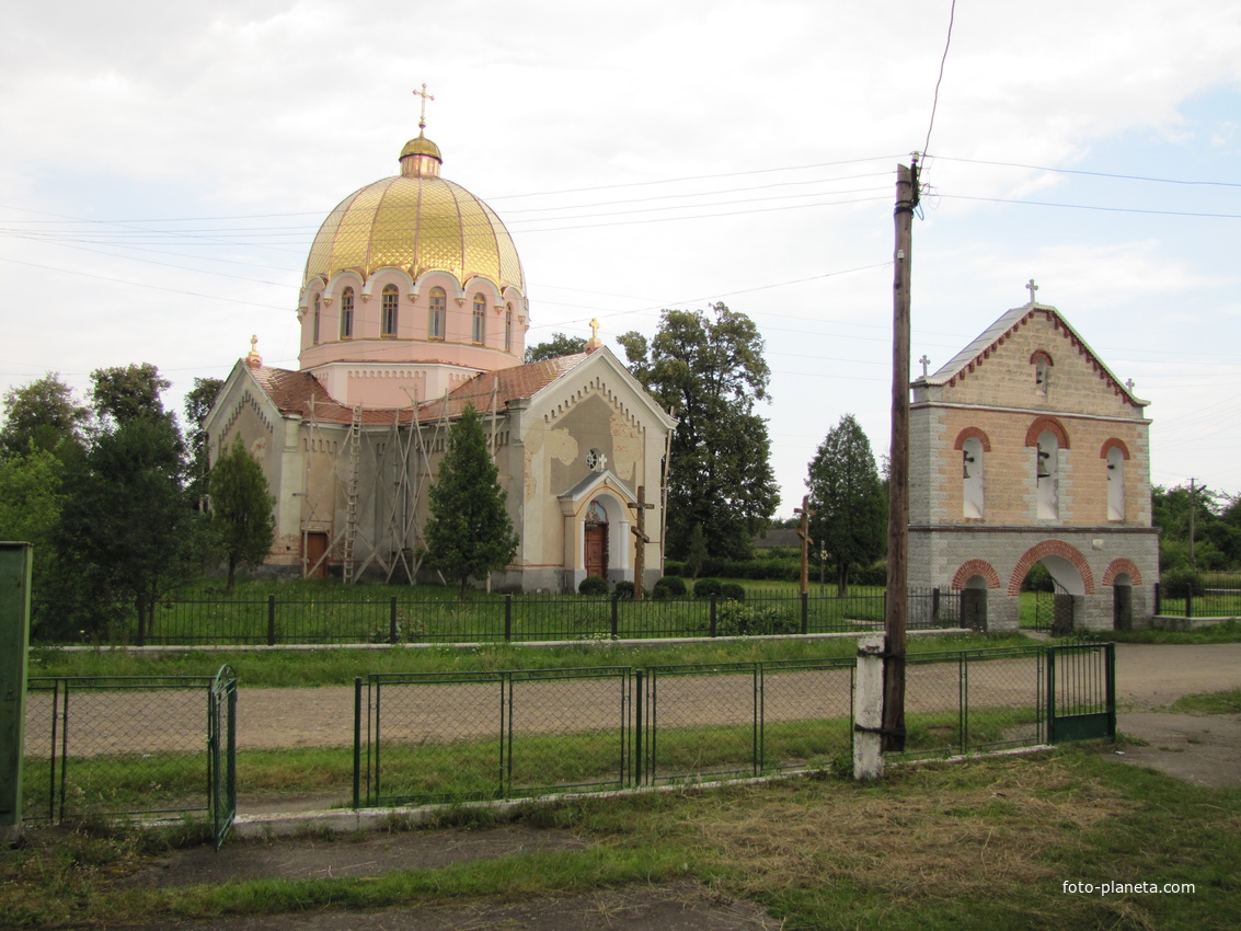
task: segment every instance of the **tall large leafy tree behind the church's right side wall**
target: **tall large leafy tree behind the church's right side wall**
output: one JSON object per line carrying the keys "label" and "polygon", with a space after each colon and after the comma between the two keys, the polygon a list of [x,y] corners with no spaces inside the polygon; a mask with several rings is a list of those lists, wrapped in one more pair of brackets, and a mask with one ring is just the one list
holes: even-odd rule
{"label": "tall large leafy tree behind the church's right side wall", "polygon": [[679,418],[666,479],[666,551],[688,552],[701,524],[711,556],[745,559],[779,500],[767,421],[755,413],[771,371],[753,322],[724,304],[711,310],[714,318],[664,310],[649,344],[632,330],[619,343],[638,381]]}

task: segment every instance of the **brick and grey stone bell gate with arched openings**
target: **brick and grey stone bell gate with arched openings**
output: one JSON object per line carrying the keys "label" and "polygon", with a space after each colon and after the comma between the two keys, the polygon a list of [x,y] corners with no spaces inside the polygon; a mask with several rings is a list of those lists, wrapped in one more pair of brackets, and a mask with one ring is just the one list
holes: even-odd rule
{"label": "brick and grey stone bell gate with arched openings", "polygon": [[1148,401],[1034,299],[912,384],[910,585],[962,590],[962,613],[1018,627],[1041,562],[1061,629],[1145,626],[1158,581]]}

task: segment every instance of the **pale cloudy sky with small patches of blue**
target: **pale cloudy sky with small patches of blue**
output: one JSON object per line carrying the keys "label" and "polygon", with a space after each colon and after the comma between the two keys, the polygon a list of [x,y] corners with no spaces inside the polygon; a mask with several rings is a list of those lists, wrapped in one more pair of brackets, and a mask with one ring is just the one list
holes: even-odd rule
{"label": "pale cloudy sky with small patches of blue", "polygon": [[527,345],[755,320],[778,516],[843,415],[889,449],[915,151],[912,358],[934,371],[1033,278],[1150,402],[1152,482],[1237,494],[1239,50],[1235,0],[17,4],[0,392],[148,361],[179,410],[251,335],[295,369],[309,243],[397,174],[426,83],[443,175],[516,242]]}

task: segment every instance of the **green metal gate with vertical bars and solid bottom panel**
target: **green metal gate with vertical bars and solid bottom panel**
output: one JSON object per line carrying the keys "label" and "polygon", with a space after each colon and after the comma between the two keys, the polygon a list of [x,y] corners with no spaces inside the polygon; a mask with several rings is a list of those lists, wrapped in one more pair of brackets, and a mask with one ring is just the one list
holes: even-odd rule
{"label": "green metal gate with vertical bars and solid bottom panel", "polygon": [[1047,742],[1116,739],[1116,644],[1047,648]]}

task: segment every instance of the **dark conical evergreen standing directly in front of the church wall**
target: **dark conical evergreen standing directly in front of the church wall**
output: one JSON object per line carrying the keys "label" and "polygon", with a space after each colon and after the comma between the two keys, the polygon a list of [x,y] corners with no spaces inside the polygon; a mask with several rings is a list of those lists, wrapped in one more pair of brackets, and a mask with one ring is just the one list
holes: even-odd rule
{"label": "dark conical evergreen standing directly in front of the church wall", "polygon": [[467,405],[448,434],[439,475],[431,487],[427,520],[427,565],[452,581],[465,582],[503,569],[517,552],[499,469],[486,451],[486,433],[473,405]]}

